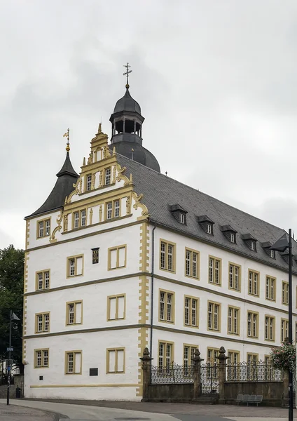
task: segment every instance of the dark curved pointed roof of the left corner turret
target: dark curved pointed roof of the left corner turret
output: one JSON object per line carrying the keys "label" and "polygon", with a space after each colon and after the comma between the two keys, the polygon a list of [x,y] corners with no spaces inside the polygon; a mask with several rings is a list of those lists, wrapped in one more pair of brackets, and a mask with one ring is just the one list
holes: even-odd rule
{"label": "dark curved pointed roof of the left corner turret", "polygon": [[66,159],[59,173],[57,173],[57,181],[52,192],[48,196],[48,199],[43,203],[43,205],[35,210],[34,213],[27,216],[26,218],[31,218],[32,216],[39,215],[40,213],[47,213],[50,210],[60,209],[64,205],[65,197],[69,196],[74,190],[74,183],[78,179],[78,174],[74,171],[74,168],[70,161],[69,152],[67,152]]}

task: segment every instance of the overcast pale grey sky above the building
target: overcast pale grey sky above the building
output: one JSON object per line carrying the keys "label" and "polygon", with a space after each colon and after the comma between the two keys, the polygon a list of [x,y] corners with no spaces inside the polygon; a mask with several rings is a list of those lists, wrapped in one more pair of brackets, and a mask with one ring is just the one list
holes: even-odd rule
{"label": "overcast pale grey sky above the building", "polygon": [[[0,1],[0,248],[125,93],[161,172],[297,234],[296,0]],[[141,192],[137,192],[138,194]]]}

